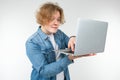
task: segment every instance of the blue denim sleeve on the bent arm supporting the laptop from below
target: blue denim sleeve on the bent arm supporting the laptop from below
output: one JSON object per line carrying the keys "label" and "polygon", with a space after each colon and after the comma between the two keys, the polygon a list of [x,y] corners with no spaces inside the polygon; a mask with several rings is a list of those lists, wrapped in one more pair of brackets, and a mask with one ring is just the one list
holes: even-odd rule
{"label": "blue denim sleeve on the bent arm supporting the laptop from below", "polygon": [[68,59],[68,56],[65,56],[59,61],[48,64],[44,54],[42,54],[41,49],[32,41],[26,42],[26,53],[33,67],[43,77],[55,76],[72,63],[72,61]]}

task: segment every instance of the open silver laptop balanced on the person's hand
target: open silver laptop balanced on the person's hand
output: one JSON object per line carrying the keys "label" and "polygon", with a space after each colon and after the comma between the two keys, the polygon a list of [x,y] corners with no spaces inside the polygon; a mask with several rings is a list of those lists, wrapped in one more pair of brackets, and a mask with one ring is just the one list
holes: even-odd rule
{"label": "open silver laptop balanced on the person's hand", "polygon": [[57,50],[59,53],[74,56],[90,53],[102,53],[105,50],[108,22],[78,19],[76,29],[75,51],[70,49]]}

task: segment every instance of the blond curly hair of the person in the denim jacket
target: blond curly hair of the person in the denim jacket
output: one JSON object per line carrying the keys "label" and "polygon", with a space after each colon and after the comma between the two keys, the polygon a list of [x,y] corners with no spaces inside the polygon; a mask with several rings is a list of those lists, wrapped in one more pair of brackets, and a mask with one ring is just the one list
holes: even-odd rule
{"label": "blond curly hair of the person in the denim jacket", "polygon": [[57,3],[52,3],[52,2],[44,3],[38,9],[36,13],[37,23],[43,26],[46,25],[47,23],[50,22],[53,14],[56,11],[59,11],[60,13],[60,24],[64,24],[65,19],[64,19],[63,9]]}

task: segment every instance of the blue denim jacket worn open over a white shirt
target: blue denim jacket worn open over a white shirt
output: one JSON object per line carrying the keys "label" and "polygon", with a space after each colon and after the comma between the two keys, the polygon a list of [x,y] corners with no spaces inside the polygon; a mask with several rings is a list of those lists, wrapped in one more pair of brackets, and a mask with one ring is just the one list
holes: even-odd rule
{"label": "blue denim jacket worn open over a white shirt", "polygon": [[[67,48],[69,37],[61,30],[54,34],[59,49]],[[67,55],[61,54],[56,61],[54,48],[48,36],[38,30],[26,41],[26,53],[32,63],[31,80],[56,80],[56,75],[64,71],[64,80],[70,80],[68,65],[72,63]]]}

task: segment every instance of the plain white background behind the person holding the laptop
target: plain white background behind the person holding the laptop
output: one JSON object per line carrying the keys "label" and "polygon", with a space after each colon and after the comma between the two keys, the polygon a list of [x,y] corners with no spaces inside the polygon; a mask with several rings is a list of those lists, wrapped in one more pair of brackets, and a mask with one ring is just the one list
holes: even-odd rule
{"label": "plain white background behind the person holding the laptop", "polygon": [[[0,80],[30,80],[31,63],[25,41],[38,24],[35,12],[48,0],[0,0]],[[66,23],[60,27],[75,34],[77,18],[109,22],[105,52],[76,59],[69,65],[71,80],[120,80],[120,1],[50,0],[64,9]]]}

